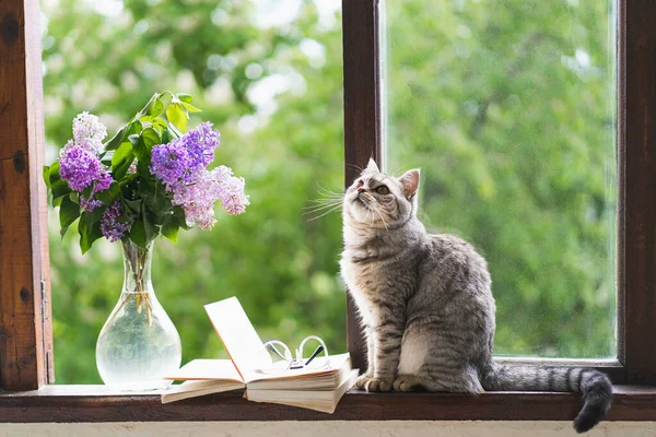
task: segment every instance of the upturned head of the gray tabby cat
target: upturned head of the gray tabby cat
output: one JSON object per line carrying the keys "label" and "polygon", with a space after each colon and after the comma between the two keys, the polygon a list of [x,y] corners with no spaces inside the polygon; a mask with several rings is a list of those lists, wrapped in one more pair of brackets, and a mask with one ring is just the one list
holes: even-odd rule
{"label": "upturned head of the gray tabby cat", "polygon": [[397,227],[417,214],[419,168],[401,177],[382,173],[374,160],[344,194],[343,213],[348,225],[375,228]]}

